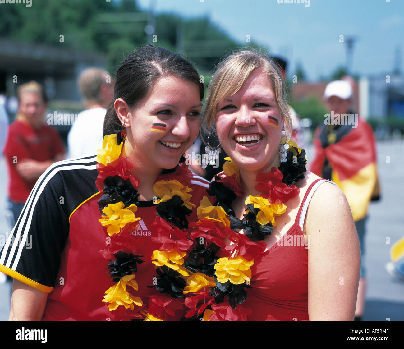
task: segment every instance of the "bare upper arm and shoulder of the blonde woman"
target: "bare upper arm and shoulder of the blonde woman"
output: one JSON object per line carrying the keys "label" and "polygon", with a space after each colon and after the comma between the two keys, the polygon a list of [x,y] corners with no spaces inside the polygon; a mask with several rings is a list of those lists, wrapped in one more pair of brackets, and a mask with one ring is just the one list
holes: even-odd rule
{"label": "bare upper arm and shoulder of the blonde woman", "polygon": [[360,273],[360,250],[351,209],[337,185],[318,185],[307,209],[310,240],[307,278],[310,321],[352,321]]}

